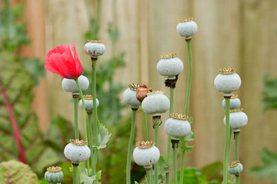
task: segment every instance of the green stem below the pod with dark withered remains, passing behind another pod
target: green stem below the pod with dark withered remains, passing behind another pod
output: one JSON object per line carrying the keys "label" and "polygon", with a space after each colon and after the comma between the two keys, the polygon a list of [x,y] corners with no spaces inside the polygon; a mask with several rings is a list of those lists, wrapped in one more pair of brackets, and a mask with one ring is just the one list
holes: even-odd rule
{"label": "green stem below the pod with dark withered remains, passing behind another pod", "polygon": [[[170,108],[169,108],[169,117],[173,112],[173,103],[174,103],[174,88],[170,88]],[[170,150],[171,150],[171,137],[168,135],[168,149],[166,151],[166,165],[170,167]],[[166,172],[166,184],[169,184],[169,172]]]}

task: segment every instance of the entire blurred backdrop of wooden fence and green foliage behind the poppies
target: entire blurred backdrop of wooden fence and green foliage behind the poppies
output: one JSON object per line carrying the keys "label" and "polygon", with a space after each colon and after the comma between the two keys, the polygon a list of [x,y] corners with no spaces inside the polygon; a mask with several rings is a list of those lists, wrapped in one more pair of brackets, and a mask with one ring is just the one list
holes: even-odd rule
{"label": "entire blurred backdrop of wooden fence and green foliage behind the poppies", "polygon": [[[62,90],[62,78],[44,70],[44,59],[55,46],[75,43],[84,75],[90,76],[84,43],[102,39],[106,52],[98,61],[97,94],[100,121],[112,136],[100,155],[99,170],[102,183],[122,183],[130,127],[130,110],[123,104],[122,92],[129,83],[146,83],[168,95],[156,65],[161,54],[177,52],[184,71],[175,89],[174,112],[184,113],[188,55],[176,26],[178,19],[194,17],[198,32],[192,40],[189,115],[196,136],[185,165],[197,167],[193,177],[202,177],[206,183],[221,177],[223,96],[213,80],[218,69],[231,67],[241,76],[237,94],[249,117],[240,133],[242,183],[277,183],[277,1],[0,0],[0,9],[0,161],[20,160],[8,100],[32,170],[42,178],[46,167],[60,164],[69,173],[70,163],[62,150],[73,136],[73,100]],[[167,117],[162,116],[162,121]],[[79,118],[82,122],[81,111]],[[141,141],[141,111],[136,125],[136,141]],[[159,139],[165,154],[163,125]],[[139,181],[143,172],[133,165],[134,180]]]}

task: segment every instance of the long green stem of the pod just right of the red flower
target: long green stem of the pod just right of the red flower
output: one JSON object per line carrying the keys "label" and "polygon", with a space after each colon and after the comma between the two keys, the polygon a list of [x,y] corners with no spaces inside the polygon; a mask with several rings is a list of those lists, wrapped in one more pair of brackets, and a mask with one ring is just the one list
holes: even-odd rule
{"label": "long green stem of the pod just right of the red flower", "polygon": [[92,61],[92,96],[93,96],[93,134],[94,134],[94,142],[96,147],[94,148],[93,155],[93,165],[92,165],[92,174],[96,174],[96,164],[98,158],[98,115],[97,115],[97,106],[96,106],[96,61],[97,58],[91,57]]}

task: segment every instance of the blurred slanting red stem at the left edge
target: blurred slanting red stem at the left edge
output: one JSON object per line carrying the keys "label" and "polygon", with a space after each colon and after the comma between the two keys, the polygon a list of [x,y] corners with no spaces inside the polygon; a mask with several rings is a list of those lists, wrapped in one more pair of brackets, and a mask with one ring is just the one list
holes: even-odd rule
{"label": "blurred slanting red stem at the left edge", "polygon": [[7,94],[6,90],[3,88],[3,85],[1,84],[1,82],[0,82],[0,90],[3,95],[3,99],[6,103],[6,108],[8,109],[8,112],[10,115],[10,122],[12,123],[12,128],[15,132],[15,141],[17,142],[17,147],[19,150],[19,159],[22,163],[26,163],[24,149],[23,149],[23,146],[21,143],[20,132],[17,127],[17,120],[15,119],[15,114],[13,113],[12,105],[10,105],[10,100],[8,99],[8,94]]}

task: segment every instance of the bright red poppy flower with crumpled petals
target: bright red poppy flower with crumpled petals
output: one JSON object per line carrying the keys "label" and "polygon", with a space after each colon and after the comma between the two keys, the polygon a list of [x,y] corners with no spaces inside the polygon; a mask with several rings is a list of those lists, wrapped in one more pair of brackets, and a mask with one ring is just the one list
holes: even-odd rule
{"label": "bright red poppy flower with crumpled petals", "polygon": [[44,68],[66,79],[77,79],[83,72],[75,44],[60,45],[50,50],[46,55]]}

